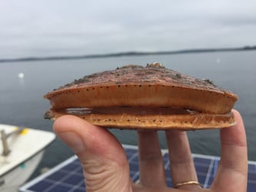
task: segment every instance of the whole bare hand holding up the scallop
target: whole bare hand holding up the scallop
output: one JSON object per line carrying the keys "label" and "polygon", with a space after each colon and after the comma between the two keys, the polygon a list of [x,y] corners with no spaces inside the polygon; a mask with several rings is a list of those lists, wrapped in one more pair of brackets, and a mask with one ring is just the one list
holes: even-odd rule
{"label": "whole bare hand holding up the scallop", "polygon": [[[78,155],[87,191],[246,191],[248,156],[244,124],[221,129],[221,161],[210,189],[197,184],[166,187],[160,145],[155,131],[138,131],[140,184],[130,179],[128,160],[121,144],[109,131],[75,116],[58,118],[54,131]],[[166,131],[173,185],[198,180],[185,131]]]}

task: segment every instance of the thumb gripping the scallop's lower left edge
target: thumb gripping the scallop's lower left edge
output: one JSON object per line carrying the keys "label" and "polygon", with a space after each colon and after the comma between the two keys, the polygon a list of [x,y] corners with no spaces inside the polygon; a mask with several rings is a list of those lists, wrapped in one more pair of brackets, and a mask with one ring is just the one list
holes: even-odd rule
{"label": "thumb gripping the scallop's lower left edge", "polygon": [[125,151],[110,132],[71,115],[58,118],[53,128],[80,159],[86,191],[131,191]]}

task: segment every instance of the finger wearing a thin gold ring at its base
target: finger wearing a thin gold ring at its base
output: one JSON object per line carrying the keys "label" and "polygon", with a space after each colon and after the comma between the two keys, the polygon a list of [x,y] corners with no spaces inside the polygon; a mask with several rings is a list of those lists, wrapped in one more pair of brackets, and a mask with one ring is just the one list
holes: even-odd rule
{"label": "finger wearing a thin gold ring at its base", "polygon": [[198,177],[186,132],[166,131],[165,134],[169,151],[172,185],[184,190],[198,189],[200,186],[197,184]]}

